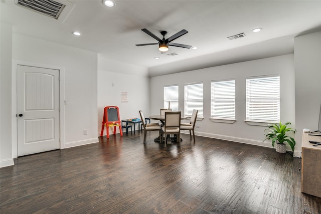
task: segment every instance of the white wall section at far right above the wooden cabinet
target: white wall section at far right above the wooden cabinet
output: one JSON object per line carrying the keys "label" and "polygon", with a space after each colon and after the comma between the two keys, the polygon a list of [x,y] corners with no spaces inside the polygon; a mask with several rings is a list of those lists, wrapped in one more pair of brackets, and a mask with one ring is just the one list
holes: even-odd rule
{"label": "white wall section at far right above the wooden cabinet", "polygon": [[294,38],[295,140],[301,147],[302,130],[317,130],[321,105],[321,32]]}

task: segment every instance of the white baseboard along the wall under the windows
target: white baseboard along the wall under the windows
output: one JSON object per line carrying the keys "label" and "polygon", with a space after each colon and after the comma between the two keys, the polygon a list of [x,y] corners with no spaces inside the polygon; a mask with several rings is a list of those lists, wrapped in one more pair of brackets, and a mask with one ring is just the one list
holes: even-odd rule
{"label": "white baseboard along the wall under the windows", "polygon": [[[190,134],[189,131],[182,131],[182,133]],[[253,140],[253,139],[233,137],[233,136],[221,135],[221,134],[212,134],[212,133],[206,133],[206,132],[195,132],[195,135],[202,136],[202,137],[215,138],[215,139],[220,139],[220,140],[228,140],[228,141],[233,141],[233,142],[237,142],[237,143],[245,143],[245,144],[250,144],[250,145],[272,148],[271,142],[268,142],[268,141],[263,142],[261,140]],[[288,144],[286,144],[286,150],[292,151],[291,147]],[[294,150],[293,156],[294,157],[301,157],[301,151]]]}

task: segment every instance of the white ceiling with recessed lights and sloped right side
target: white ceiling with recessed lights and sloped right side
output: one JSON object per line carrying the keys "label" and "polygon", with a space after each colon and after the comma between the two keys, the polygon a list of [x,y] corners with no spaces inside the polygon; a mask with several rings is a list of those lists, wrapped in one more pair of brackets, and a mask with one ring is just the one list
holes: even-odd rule
{"label": "white ceiling with recessed lights and sloped right side", "polygon": [[[321,1],[114,0],[113,8],[100,0],[57,2],[67,5],[58,20],[0,0],[1,22],[12,24],[15,33],[147,67],[150,76],[293,53],[295,36],[321,28]],[[159,38],[162,30],[168,38],[186,29],[173,42],[198,49],[170,46],[161,54],[157,45],[136,47],[157,42],[143,28]],[[254,28],[263,30],[253,33]],[[246,36],[227,39],[239,33]]]}

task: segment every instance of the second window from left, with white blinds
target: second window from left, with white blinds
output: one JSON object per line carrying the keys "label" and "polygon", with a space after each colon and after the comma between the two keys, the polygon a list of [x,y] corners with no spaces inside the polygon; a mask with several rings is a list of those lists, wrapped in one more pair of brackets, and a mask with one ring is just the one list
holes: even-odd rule
{"label": "second window from left, with white blinds", "polygon": [[199,110],[197,116],[203,117],[203,83],[193,83],[184,86],[184,114],[192,116],[193,109]]}

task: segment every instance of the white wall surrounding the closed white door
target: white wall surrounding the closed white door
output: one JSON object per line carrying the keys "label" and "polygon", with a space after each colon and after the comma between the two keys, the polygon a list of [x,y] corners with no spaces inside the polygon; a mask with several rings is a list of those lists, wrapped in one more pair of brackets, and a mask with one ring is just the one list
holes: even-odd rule
{"label": "white wall surrounding the closed white door", "polygon": [[66,99],[68,103],[61,104],[65,148],[98,142],[97,53],[13,34],[13,60],[62,68],[62,101]]}

